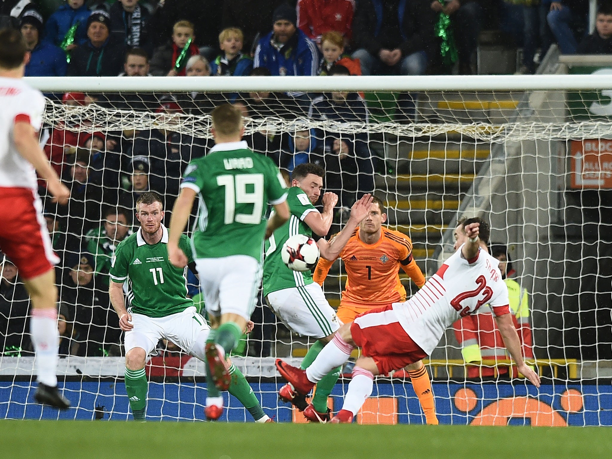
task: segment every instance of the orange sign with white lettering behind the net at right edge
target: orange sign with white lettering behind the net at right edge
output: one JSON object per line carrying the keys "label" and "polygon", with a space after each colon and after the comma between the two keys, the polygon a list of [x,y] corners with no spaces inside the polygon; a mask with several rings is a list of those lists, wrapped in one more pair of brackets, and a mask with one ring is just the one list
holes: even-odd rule
{"label": "orange sign with white lettering behind the net at right edge", "polygon": [[612,140],[572,140],[571,187],[612,189]]}

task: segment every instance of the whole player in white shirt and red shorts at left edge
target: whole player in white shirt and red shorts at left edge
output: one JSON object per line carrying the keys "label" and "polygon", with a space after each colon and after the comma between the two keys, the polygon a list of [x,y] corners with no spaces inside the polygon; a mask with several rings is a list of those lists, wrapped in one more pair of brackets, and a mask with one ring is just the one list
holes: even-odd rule
{"label": "whole player in white shirt and red shorts at left edge", "polygon": [[39,176],[47,181],[54,201],[66,204],[61,184],[37,141],[45,110],[43,95],[21,80],[30,54],[19,31],[0,31],[0,250],[21,274],[32,299],[30,332],[36,352],[38,387],[35,398],[59,409],[70,402],[58,392],[58,289],[53,265],[59,259],[36,194]]}

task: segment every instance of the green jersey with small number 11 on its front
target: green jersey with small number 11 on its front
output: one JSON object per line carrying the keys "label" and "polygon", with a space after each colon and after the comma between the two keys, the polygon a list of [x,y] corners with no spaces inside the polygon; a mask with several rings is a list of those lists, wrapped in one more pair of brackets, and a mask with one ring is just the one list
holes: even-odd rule
{"label": "green jersey with small number 11 on its front", "polygon": [[[142,229],[118,245],[111,267],[111,280],[127,280],[129,312],[149,317],[165,317],[182,312],[193,301],[187,298],[187,267],[177,268],[168,260],[168,230],[162,225],[162,240],[147,244]],[[181,235],[179,247],[193,262],[189,238]]]}

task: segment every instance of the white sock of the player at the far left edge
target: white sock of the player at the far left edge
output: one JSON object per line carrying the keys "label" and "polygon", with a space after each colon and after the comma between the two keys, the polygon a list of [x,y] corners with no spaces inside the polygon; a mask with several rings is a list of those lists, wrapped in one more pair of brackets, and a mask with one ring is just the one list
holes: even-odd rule
{"label": "white sock of the player at the far left edge", "polygon": [[55,309],[34,309],[30,320],[32,344],[36,353],[37,381],[47,386],[58,385],[58,312]]}

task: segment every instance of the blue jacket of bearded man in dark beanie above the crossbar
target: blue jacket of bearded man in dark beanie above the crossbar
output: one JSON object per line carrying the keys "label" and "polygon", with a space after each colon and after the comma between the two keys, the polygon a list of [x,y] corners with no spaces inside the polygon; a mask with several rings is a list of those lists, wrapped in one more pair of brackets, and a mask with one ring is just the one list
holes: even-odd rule
{"label": "blue jacket of bearded man in dark beanie above the crossbar", "polygon": [[272,45],[274,32],[259,40],[255,50],[253,67],[266,67],[272,75],[308,76],[316,75],[319,69],[319,51],[315,42],[304,32],[296,33],[280,50]]}

